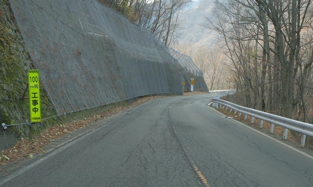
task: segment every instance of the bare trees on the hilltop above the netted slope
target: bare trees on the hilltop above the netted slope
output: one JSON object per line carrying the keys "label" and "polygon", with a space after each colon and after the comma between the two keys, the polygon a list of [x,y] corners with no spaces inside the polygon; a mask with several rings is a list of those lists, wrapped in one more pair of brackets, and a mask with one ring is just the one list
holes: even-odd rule
{"label": "bare trees on the hilltop above the netted slope", "polygon": [[166,46],[173,42],[179,11],[192,0],[98,0],[155,34]]}

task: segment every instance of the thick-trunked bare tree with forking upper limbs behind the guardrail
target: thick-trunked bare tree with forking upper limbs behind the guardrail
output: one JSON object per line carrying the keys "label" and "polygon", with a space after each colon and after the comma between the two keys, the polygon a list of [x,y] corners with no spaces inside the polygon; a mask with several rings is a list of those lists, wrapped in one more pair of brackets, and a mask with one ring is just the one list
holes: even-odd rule
{"label": "thick-trunked bare tree with forking upper limbs behind the guardrail", "polygon": [[304,18],[312,0],[255,0],[272,23],[275,48],[271,51],[280,62],[281,105],[284,117],[290,117],[297,100],[294,95],[294,78],[298,71],[300,36]]}

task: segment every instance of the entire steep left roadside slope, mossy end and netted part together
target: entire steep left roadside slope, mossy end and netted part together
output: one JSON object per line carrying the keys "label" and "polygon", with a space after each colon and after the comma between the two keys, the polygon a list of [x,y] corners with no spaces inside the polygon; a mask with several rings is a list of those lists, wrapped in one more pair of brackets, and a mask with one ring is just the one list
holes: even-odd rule
{"label": "entire steep left roadside slope, mossy end and netted part together", "polygon": [[[186,71],[122,15],[96,0],[53,2],[0,2],[0,124],[13,125],[5,131],[17,138],[116,102],[182,94],[181,82],[190,77],[201,83],[195,91],[207,91],[200,72]],[[36,124],[29,123],[29,100],[22,99],[29,69],[40,72],[42,122]]]}

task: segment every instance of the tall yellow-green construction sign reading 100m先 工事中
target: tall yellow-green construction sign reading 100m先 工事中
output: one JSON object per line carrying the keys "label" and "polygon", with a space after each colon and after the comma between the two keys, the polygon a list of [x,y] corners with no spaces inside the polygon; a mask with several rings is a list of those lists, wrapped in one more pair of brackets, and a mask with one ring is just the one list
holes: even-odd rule
{"label": "tall yellow-green construction sign reading 100m\u5148 \u5de5\u4e8b\u4e2d", "polygon": [[30,122],[41,121],[39,70],[28,70]]}

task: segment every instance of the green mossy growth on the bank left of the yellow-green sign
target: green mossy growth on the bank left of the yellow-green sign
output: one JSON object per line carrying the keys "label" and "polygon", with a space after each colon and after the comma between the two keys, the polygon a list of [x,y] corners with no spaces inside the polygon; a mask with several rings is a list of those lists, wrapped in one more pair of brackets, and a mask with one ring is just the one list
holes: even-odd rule
{"label": "green mossy growth on the bank left of the yellow-green sign", "polygon": [[0,122],[12,124],[27,115],[27,103],[20,97],[26,87],[26,63],[30,60],[8,4],[7,0],[0,4]]}

